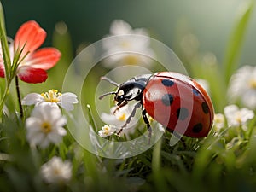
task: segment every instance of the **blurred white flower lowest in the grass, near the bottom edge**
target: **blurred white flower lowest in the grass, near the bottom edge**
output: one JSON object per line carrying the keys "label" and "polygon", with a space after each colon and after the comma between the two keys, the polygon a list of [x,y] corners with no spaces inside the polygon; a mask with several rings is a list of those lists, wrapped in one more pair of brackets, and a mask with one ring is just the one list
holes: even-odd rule
{"label": "blurred white flower lowest in the grass, near the bottom edge", "polygon": [[47,183],[65,183],[72,177],[72,164],[53,157],[41,167],[41,173]]}

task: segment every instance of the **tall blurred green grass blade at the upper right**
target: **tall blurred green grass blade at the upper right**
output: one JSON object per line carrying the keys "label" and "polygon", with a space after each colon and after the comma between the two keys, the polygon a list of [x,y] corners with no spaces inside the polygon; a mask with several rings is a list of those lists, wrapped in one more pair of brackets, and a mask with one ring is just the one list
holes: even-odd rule
{"label": "tall blurred green grass blade at the upper right", "polygon": [[231,34],[230,42],[227,45],[226,54],[224,58],[224,75],[226,84],[238,66],[238,61],[241,55],[241,47],[247,29],[248,21],[253,12],[253,1],[242,4],[240,15],[236,20],[236,26]]}

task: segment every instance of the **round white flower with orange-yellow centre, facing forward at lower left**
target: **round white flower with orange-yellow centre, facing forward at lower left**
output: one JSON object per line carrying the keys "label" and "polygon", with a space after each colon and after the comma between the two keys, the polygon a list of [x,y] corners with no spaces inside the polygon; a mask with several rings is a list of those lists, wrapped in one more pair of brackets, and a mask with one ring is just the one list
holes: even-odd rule
{"label": "round white flower with orange-yellow centre, facing forward at lower left", "polygon": [[60,143],[67,131],[62,127],[66,119],[61,109],[48,102],[36,105],[31,116],[26,119],[26,138],[31,145],[46,148],[49,143]]}

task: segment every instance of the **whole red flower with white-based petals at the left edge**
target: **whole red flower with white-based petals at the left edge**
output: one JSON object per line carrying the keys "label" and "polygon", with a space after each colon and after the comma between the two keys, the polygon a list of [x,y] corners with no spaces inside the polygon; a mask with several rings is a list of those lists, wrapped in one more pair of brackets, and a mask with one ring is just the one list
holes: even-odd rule
{"label": "whole red flower with white-based petals at the left edge", "polygon": [[[10,53],[23,49],[20,58],[26,55],[17,68],[17,75],[26,83],[42,83],[47,79],[46,70],[54,67],[61,58],[61,53],[55,48],[38,49],[44,43],[46,32],[36,21],[27,21],[20,26],[15,35],[13,46],[10,46]],[[2,52],[2,49],[1,49]],[[0,52],[0,77],[4,78],[4,65],[2,53]],[[10,54],[13,57],[13,54]],[[12,59],[12,58],[11,58]]]}

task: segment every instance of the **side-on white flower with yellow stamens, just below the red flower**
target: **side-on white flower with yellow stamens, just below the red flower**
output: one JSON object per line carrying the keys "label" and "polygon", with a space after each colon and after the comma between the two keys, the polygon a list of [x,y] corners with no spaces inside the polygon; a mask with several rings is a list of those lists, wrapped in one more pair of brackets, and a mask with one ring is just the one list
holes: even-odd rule
{"label": "side-on white flower with yellow stamens, just below the red flower", "polygon": [[50,102],[52,104],[58,104],[61,108],[67,111],[73,110],[73,104],[78,103],[77,96],[73,93],[67,92],[61,94],[58,90],[49,90],[45,93],[30,93],[24,97],[22,105],[38,105],[42,102]]}

